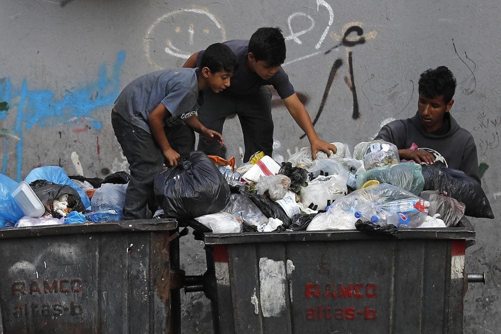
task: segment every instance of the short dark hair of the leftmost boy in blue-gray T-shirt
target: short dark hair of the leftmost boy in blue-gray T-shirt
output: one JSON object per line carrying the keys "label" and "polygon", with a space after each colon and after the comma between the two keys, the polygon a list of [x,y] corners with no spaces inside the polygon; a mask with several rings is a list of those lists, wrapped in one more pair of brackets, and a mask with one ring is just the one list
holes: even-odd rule
{"label": "short dark hair of the leftmost boy in blue-gray T-shirt", "polygon": [[235,72],[236,56],[231,49],[222,44],[214,43],[205,49],[200,60],[200,69],[208,67],[211,73]]}

